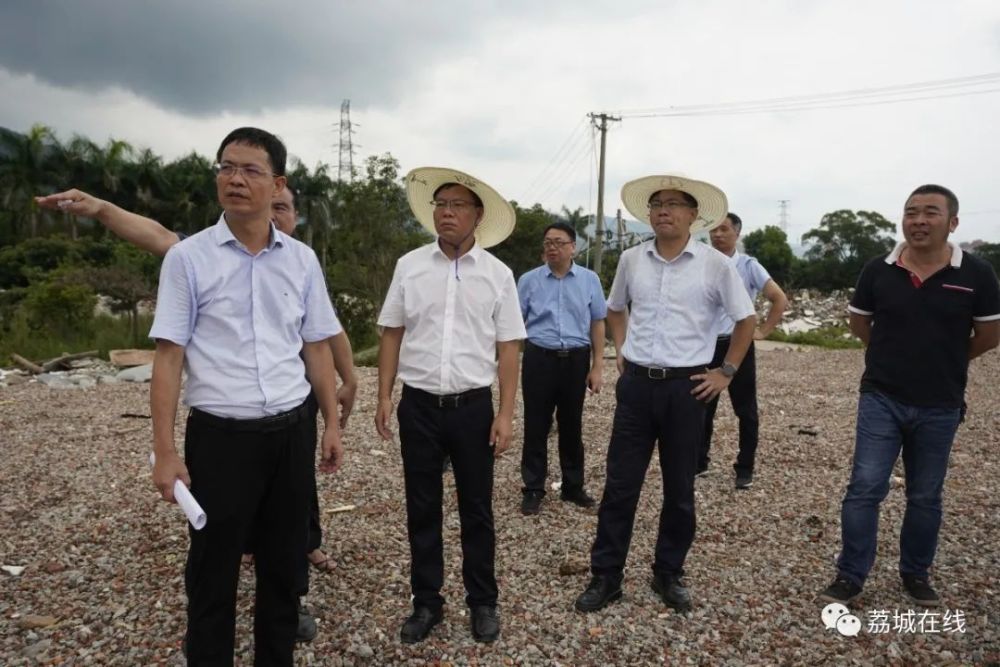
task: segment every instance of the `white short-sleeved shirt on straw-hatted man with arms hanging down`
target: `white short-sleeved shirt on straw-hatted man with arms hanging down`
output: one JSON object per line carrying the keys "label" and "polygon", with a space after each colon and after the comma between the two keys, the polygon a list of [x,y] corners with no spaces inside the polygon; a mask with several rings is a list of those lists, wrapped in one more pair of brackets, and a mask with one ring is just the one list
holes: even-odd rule
{"label": "white short-sleeved shirt on straw-hatted man with arms hanging down", "polygon": [[478,244],[458,262],[437,241],[400,257],[378,324],[406,329],[403,383],[438,395],[489,387],[496,343],[525,337],[514,274]]}

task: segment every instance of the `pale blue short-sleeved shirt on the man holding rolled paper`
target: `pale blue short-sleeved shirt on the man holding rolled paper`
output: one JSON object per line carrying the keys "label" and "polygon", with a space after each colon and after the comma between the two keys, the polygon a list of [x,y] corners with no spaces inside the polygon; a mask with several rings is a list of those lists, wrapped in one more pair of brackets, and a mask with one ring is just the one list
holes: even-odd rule
{"label": "pale blue short-sleeved shirt on the man holding rolled paper", "polygon": [[255,419],[306,399],[303,342],[342,330],[309,246],[272,224],[251,255],[223,216],[163,258],[149,337],[184,346],[187,405]]}

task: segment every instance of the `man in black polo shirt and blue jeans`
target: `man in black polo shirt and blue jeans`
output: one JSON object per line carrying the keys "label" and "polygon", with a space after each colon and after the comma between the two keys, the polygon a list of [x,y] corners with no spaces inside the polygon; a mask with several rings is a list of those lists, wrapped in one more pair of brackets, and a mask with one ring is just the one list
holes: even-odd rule
{"label": "man in black polo shirt and blue jeans", "polygon": [[[849,306],[867,346],[854,466],[841,509],[837,577],[821,594],[847,604],[875,562],[879,504],[903,453],[906,513],[899,539],[903,588],[937,606],[928,570],[941,526],[941,491],[962,420],[969,360],[1000,341],[1000,287],[992,267],[948,243],[958,199],[923,185],[903,209],[903,243],[862,270]],[[970,337],[971,334],[971,337]]]}

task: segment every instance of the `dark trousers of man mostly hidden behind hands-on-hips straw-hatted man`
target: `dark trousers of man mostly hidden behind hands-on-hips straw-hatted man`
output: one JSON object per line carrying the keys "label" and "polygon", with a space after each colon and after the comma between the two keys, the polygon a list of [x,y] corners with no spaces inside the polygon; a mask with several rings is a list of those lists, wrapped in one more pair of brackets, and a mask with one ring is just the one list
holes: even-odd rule
{"label": "dark trousers of man mostly hidden behind hands-on-hips straw-hatted man", "polygon": [[[726,352],[729,350],[729,338],[719,338],[715,344],[715,357],[712,358],[712,368],[718,368],[725,361]],[[710,457],[709,449],[712,447],[712,429],[715,424],[715,410],[719,407],[719,399],[722,395],[716,396],[709,401],[705,410],[705,436],[701,442],[701,452],[698,457],[698,468],[708,467]],[[760,431],[760,419],[757,415],[757,361],[754,354],[754,345],[750,343],[750,349],[743,358],[739,370],[729,383],[729,402],[733,406],[733,412],[740,424],[740,451],[736,456],[736,464],[733,466],[737,471],[753,472],[754,462],[757,458],[757,440]]]}

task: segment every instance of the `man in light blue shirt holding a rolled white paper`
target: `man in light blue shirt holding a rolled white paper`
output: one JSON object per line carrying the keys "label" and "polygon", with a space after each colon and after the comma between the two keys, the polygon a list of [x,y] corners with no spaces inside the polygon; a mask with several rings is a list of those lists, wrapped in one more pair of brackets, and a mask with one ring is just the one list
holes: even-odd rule
{"label": "man in light blue shirt holding a rolled white paper", "polygon": [[[171,247],[160,274],[150,331],[153,482],[173,501],[182,480],[208,516],[202,530],[190,531],[189,664],[232,664],[236,585],[250,534],[257,538],[254,661],[292,664],[316,445],[310,391],[328,425],[320,469],[334,471],[342,458],[328,342],[341,326],[315,254],[271,223],[285,156],[268,132],[230,133],[215,165],[224,213]],[[174,448],[182,369],[190,407],[183,460]]]}

